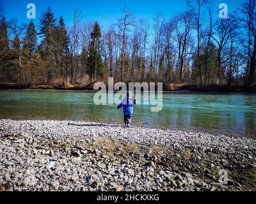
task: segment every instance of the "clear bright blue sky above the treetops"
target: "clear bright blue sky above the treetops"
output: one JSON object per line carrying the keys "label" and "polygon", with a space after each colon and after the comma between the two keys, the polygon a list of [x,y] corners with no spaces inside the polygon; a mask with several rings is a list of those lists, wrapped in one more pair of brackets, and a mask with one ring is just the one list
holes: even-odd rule
{"label": "clear bright blue sky above the treetops", "polygon": [[[193,1],[193,0],[192,0]],[[17,18],[18,22],[29,23],[30,19],[26,18],[27,4],[36,5],[36,19],[33,20],[38,24],[42,11],[47,6],[51,6],[52,11],[59,18],[64,17],[67,25],[72,24],[73,10],[77,6],[81,11],[82,21],[97,20],[103,29],[116,22],[116,18],[122,16],[122,8],[126,6],[131,9],[138,18],[146,18],[152,22],[154,15],[161,11],[163,16],[168,18],[181,11],[186,10],[186,0],[1,0],[4,7],[4,15],[7,20]],[[214,0],[216,17],[218,17],[218,5],[227,3],[230,13],[239,8],[243,1],[241,0]]]}

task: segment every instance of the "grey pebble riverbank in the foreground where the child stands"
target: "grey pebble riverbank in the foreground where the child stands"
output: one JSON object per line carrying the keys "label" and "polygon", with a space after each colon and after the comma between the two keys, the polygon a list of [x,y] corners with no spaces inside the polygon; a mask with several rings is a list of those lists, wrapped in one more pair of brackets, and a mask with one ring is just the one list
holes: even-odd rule
{"label": "grey pebble riverbank in the foreground where the child stands", "polygon": [[[256,190],[256,140],[71,120],[0,120],[0,189]],[[219,182],[227,171],[227,183]],[[222,180],[222,179],[221,179]]]}

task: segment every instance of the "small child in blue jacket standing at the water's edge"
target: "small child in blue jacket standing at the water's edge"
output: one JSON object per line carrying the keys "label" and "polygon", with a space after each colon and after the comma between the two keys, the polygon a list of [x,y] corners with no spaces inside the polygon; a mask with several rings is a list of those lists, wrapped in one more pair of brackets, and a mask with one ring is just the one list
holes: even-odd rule
{"label": "small child in blue jacket standing at the water's edge", "polygon": [[136,98],[132,99],[132,93],[127,92],[127,97],[122,99],[122,102],[116,107],[117,109],[123,107],[124,124],[127,128],[131,127],[133,105],[136,105]]}

